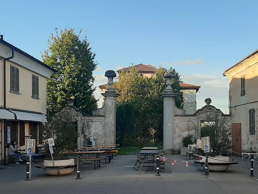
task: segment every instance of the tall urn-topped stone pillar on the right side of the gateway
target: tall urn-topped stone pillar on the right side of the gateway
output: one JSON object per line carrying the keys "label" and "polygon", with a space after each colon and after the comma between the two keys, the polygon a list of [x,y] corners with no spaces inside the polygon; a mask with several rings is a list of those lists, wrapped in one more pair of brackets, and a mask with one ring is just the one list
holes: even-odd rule
{"label": "tall urn-topped stone pillar on the right side of the gateway", "polygon": [[168,71],[165,74],[167,79],[167,87],[161,95],[164,101],[163,111],[163,152],[170,153],[174,149],[174,101],[178,94],[175,94],[171,85],[172,79],[175,77],[174,71]]}

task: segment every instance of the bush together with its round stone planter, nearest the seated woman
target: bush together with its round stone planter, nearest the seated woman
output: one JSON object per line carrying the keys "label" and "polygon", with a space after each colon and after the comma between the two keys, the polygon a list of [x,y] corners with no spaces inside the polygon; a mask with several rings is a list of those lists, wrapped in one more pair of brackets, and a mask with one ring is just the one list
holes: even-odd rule
{"label": "bush together with its round stone planter, nearest the seated woman", "polygon": [[[54,138],[53,159],[49,157],[44,161],[44,167],[53,169],[44,169],[50,175],[66,175],[74,170],[74,160],[64,155],[64,151],[74,151],[77,148],[78,132],[76,123],[73,122],[72,116],[67,112],[59,112],[47,117],[47,123],[42,126],[44,139]],[[48,145],[45,144],[46,153],[50,155]],[[65,169],[54,169],[55,166],[66,166]],[[69,167],[71,166],[71,167]]]}

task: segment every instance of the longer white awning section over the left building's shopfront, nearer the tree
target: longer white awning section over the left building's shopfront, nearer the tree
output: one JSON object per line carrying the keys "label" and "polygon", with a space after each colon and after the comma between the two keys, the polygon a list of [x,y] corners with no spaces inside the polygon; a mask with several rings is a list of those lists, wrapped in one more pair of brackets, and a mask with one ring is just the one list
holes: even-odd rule
{"label": "longer white awning section over the left building's shopfront, nearer the tree", "polygon": [[12,110],[12,112],[16,115],[17,120],[47,122],[46,116],[42,114],[26,113],[14,110]]}

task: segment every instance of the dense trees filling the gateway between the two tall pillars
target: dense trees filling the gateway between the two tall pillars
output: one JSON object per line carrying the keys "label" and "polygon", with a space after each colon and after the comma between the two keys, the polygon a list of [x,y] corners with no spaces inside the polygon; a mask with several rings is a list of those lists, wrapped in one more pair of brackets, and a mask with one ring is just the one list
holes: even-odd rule
{"label": "dense trees filling the gateway between the two tall pillars", "polygon": [[[171,68],[172,70],[172,68]],[[133,140],[140,137],[151,139],[163,138],[163,99],[161,94],[166,88],[167,69],[160,67],[153,78],[139,75],[139,71],[132,68],[130,72],[121,72],[118,82],[114,84],[117,99],[117,143]],[[180,94],[180,75],[175,72],[172,80],[174,93]],[[177,107],[183,107],[180,95],[175,100]],[[147,137],[149,136],[149,137]]]}

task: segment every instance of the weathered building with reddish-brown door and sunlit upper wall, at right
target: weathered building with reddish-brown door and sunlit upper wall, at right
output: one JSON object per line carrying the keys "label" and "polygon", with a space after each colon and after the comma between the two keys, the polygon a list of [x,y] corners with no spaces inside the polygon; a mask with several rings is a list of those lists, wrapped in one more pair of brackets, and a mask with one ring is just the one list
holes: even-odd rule
{"label": "weathered building with reddish-brown door and sunlit upper wall, at right", "polygon": [[229,78],[232,150],[258,151],[258,49],[224,71]]}

